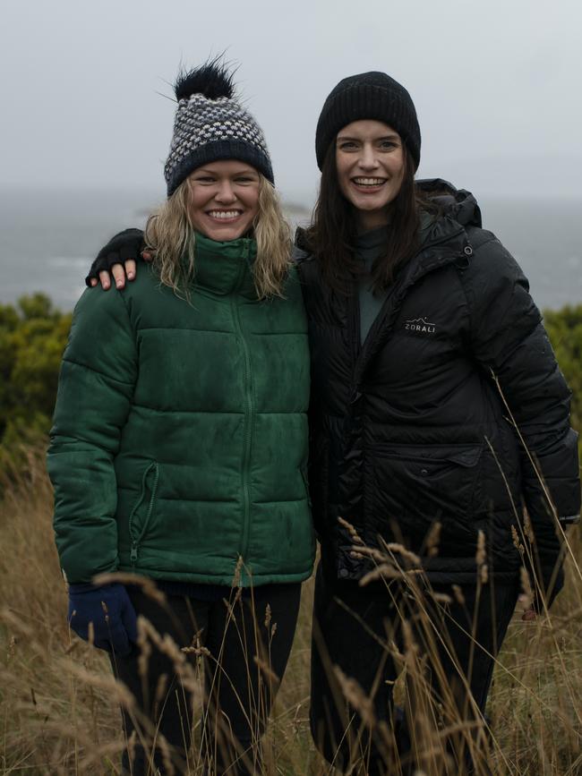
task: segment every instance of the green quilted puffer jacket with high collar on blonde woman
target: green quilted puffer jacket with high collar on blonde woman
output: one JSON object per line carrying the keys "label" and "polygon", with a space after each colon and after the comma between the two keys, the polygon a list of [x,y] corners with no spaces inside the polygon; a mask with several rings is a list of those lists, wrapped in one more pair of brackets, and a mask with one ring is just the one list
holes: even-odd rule
{"label": "green quilted puffer jacket with high collar on blonde woman", "polygon": [[145,267],[124,293],[82,295],[48,451],[69,582],[311,574],[301,287],[293,269],[285,299],[258,301],[255,253],[196,235],[191,303]]}

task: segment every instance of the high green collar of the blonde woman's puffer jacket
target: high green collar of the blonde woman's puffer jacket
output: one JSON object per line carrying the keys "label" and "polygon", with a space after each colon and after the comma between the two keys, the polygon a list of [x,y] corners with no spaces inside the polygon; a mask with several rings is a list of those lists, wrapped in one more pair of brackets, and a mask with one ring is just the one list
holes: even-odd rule
{"label": "high green collar of the blonde woman's puffer jacket", "polygon": [[252,264],[257,256],[257,243],[239,237],[227,243],[194,235],[194,286],[211,294],[242,294],[256,299]]}

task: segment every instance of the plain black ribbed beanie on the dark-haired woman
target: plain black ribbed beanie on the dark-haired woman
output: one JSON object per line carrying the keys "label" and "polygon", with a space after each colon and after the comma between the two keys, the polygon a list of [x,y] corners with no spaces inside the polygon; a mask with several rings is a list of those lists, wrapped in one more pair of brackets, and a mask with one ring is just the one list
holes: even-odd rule
{"label": "plain black ribbed beanie on the dark-haired woman", "polygon": [[420,127],[407,90],[385,72],[363,72],[339,81],[323,104],[315,132],[315,155],[321,169],[339,130],[360,119],[389,124],[407,144],[415,169],[420,163]]}

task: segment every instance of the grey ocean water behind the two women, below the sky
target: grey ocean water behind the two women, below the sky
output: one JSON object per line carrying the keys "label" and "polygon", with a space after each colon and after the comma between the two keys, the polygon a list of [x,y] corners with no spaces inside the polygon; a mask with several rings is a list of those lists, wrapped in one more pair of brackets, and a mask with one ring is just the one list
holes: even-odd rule
{"label": "grey ocean water behind the two women, below the sky", "polygon": [[[125,226],[143,226],[163,192],[0,191],[0,303],[42,291],[73,308],[98,248]],[[581,200],[479,198],[485,228],[501,239],[529,278],[535,302],[582,303]],[[295,223],[311,202],[288,206]]]}

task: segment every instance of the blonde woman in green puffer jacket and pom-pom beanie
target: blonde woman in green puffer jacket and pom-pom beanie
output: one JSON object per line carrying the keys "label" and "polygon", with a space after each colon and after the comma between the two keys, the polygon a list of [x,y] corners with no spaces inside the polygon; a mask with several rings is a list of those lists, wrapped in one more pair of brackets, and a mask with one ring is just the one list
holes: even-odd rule
{"label": "blonde woman in green puffer jacket and pom-pom beanie", "polygon": [[207,766],[247,773],[274,692],[260,667],[269,655],[266,676],[282,676],[312,571],[307,326],[269,152],[232,76],[214,61],[175,94],[156,259],[125,294],[81,297],[48,469],[71,627],[136,701],[125,770],[186,772],[187,661],[203,653]]}

